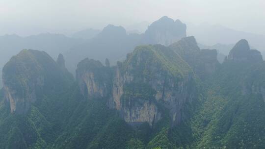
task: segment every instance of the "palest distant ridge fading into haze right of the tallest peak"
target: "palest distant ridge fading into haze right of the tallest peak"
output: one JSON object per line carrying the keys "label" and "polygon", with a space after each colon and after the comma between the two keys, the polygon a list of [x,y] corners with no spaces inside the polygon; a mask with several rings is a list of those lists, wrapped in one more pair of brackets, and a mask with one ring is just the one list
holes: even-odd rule
{"label": "palest distant ridge fading into haze right of the tallest peak", "polygon": [[[238,31],[223,25],[187,24],[187,35],[195,36],[197,42],[202,45],[212,46],[219,44],[217,46],[220,48],[222,48],[222,45],[230,45],[229,48],[231,48],[231,45],[238,40],[246,39],[253,49],[260,50],[263,55],[265,54],[265,35],[263,34]],[[219,51],[225,54],[228,50]]]}

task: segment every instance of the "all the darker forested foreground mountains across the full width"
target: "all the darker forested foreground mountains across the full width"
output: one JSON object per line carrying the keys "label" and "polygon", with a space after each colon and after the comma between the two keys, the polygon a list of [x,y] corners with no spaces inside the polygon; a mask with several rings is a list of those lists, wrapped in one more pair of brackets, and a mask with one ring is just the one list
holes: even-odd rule
{"label": "all the darker forested foreground mountains across the full width", "polygon": [[[109,25],[93,40],[124,48],[129,37]],[[81,60],[75,80],[62,54],[13,56],[3,68],[0,149],[265,148],[265,63],[246,40],[222,64],[192,36],[137,46],[114,66],[101,61]]]}

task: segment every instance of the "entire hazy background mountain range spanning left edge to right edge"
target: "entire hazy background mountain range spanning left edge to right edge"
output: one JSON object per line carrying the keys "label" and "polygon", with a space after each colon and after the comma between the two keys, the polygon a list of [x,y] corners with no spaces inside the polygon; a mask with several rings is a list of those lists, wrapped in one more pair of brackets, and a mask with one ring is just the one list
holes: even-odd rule
{"label": "entire hazy background mountain range spanning left edge to right edge", "polygon": [[[133,30],[134,27],[140,28],[141,31]],[[146,27],[144,33],[139,33]],[[142,22],[127,28],[130,30],[126,31],[122,26],[108,25],[102,31],[89,28],[73,33],[70,37],[51,33],[28,37],[0,36],[0,69],[18,51],[37,49],[46,51],[53,58],[62,53],[66,59],[66,67],[74,74],[77,63],[82,58],[94,58],[101,62],[108,58],[110,64],[115,65],[117,61],[125,60],[126,54],[137,45],[170,45],[186,34],[193,35],[201,49],[216,49],[219,62],[223,62],[224,57],[239,39],[248,40],[253,47],[251,49],[265,53],[265,35],[237,31],[222,25],[185,25],[179,20],[174,21],[164,16],[149,26],[147,22]]]}

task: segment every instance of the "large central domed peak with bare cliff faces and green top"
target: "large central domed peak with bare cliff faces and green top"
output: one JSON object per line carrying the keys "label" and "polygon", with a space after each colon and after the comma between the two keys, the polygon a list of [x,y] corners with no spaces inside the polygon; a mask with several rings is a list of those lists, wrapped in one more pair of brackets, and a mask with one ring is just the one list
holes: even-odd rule
{"label": "large central domed peak with bare cliff faces and green top", "polygon": [[[160,115],[163,110],[158,108],[158,104],[169,110],[172,125],[179,124],[184,115],[185,103],[196,99],[196,85],[191,69],[179,55],[164,46],[156,45],[136,48],[128,56],[121,68],[123,68],[123,73],[121,74],[129,78],[127,83],[141,91],[141,93],[138,93],[133,90],[132,93],[148,96],[140,99],[149,99],[146,101],[150,104],[152,111],[149,119],[154,117],[152,120],[154,122],[146,120],[149,124],[155,123],[161,118]],[[127,92],[130,92],[130,89],[127,86],[123,86],[123,91],[124,96]],[[146,93],[150,95],[146,95]],[[135,101],[133,98],[127,97],[126,99],[132,100],[131,102]],[[143,105],[147,105],[147,103]],[[156,105],[156,108],[153,108],[152,105]],[[121,107],[123,109],[123,107],[128,106],[123,105],[122,102]],[[133,106],[131,106],[131,110],[124,110],[124,113],[127,111],[132,112],[130,115],[124,116],[124,119],[132,120],[132,115],[134,114]]]}

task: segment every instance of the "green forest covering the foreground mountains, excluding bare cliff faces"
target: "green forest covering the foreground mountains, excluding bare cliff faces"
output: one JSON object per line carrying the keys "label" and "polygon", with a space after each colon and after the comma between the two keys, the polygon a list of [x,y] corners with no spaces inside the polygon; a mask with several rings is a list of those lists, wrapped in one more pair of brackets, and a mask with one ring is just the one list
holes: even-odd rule
{"label": "green forest covering the foreground mountains, excluding bare cliff faces", "polygon": [[[112,87],[115,67],[85,59],[79,69],[93,72],[95,81],[104,82],[107,89]],[[6,64],[4,81],[25,99],[35,91],[36,101],[23,114],[10,113],[0,90],[0,149],[265,148],[264,62],[227,61],[200,81],[179,54],[155,45],[137,47],[118,69],[134,77],[123,84],[122,104],[153,102],[161,120],[152,126],[147,122],[132,126],[118,110],[109,108],[108,99],[83,97],[73,77],[49,55],[21,51]],[[194,100],[183,103],[181,122],[173,124],[171,109],[166,108],[170,106],[155,97],[158,91],[164,94],[166,87],[186,94],[193,91],[187,86],[166,86],[164,81],[170,78],[178,84],[188,77],[196,79],[189,86],[200,88],[194,91]]]}

